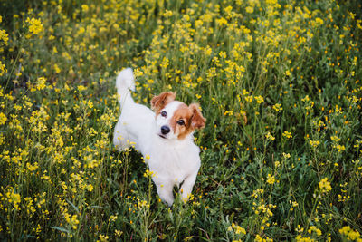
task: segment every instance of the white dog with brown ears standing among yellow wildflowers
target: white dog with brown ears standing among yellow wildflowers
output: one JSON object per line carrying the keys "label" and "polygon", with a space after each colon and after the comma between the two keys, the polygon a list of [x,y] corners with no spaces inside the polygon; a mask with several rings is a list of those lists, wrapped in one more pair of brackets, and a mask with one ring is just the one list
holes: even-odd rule
{"label": "white dog with brown ears standing among yellow wildflowers", "polygon": [[193,132],[205,126],[205,118],[197,104],[187,106],[175,101],[175,93],[162,92],[148,107],[135,103],[129,89],[135,91],[130,68],[119,73],[116,81],[121,114],[114,130],[113,143],[121,151],[135,142],[135,148],[149,157],[148,167],[159,198],[171,206],[173,188],[181,185],[181,198],[186,201],[200,168],[199,148]]}

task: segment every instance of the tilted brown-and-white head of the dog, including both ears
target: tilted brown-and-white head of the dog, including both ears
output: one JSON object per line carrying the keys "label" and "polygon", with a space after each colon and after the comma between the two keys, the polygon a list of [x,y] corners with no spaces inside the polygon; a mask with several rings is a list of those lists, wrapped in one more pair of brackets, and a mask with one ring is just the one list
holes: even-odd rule
{"label": "tilted brown-and-white head of the dog, including both ears", "polygon": [[151,100],[156,113],[157,135],[167,140],[183,140],[195,129],[205,126],[205,118],[199,106],[175,101],[174,92],[162,92]]}

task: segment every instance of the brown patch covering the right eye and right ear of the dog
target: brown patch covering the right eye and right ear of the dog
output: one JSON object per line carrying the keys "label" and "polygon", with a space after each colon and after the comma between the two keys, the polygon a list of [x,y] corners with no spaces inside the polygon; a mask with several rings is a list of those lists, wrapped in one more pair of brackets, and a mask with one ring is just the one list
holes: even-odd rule
{"label": "brown patch covering the right eye and right ear of the dog", "polygon": [[205,126],[205,118],[198,109],[198,104],[181,104],[175,111],[170,124],[175,133],[178,133],[178,140],[183,140],[195,129]]}

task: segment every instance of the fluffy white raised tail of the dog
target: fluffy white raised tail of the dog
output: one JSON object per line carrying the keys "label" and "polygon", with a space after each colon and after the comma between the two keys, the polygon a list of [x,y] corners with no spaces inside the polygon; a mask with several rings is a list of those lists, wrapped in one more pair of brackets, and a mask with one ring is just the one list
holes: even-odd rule
{"label": "fluffy white raised tail of the dog", "polygon": [[129,92],[129,90],[135,91],[135,76],[131,68],[126,68],[119,73],[116,79],[116,88],[121,106],[134,102]]}

